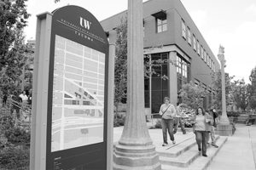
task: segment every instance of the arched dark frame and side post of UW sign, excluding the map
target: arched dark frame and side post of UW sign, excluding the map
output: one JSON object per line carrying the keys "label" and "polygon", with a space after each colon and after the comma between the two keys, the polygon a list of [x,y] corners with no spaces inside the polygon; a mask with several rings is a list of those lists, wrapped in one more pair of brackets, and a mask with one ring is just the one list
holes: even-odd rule
{"label": "arched dark frame and side post of UW sign, excluding the map", "polygon": [[[72,17],[75,18],[75,22],[72,20]],[[60,22],[61,20],[62,23]],[[84,24],[81,24],[81,20],[84,20]],[[85,22],[90,22],[91,27],[86,25]],[[104,119],[103,142],[52,152],[51,123],[56,35],[105,54]],[[86,35],[86,38],[84,35]],[[52,14],[38,15],[35,65],[38,65],[38,68],[36,66],[34,71],[35,81],[33,82],[30,169],[106,169],[108,140],[108,39],[98,20],[86,9],[73,5],[58,8]],[[43,78],[42,74],[44,74]]]}

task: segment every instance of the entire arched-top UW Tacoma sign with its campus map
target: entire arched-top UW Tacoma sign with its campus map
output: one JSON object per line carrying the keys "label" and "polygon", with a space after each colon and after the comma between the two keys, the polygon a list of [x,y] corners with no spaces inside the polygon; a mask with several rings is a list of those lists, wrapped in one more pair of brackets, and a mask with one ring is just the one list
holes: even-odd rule
{"label": "entire arched-top UW Tacoma sign with its campus map", "polygon": [[108,39],[84,8],[38,15],[32,100],[34,170],[106,169]]}

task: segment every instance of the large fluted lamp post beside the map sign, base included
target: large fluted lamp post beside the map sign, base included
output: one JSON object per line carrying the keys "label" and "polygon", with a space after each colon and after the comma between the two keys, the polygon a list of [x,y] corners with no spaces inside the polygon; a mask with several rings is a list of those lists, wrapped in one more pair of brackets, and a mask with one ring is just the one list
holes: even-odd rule
{"label": "large fluted lamp post beside the map sign, base included", "polygon": [[160,170],[144,114],[143,0],[128,0],[127,113],[113,152],[114,170]]}

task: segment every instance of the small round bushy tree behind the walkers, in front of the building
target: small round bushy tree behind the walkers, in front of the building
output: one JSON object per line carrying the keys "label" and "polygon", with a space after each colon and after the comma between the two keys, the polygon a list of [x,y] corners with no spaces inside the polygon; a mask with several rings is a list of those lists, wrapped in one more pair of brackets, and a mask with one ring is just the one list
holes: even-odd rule
{"label": "small round bushy tree behind the walkers, in front of the building", "polygon": [[196,110],[199,106],[203,106],[203,99],[207,96],[207,92],[200,85],[196,86],[193,82],[190,82],[183,85],[178,96],[183,99],[183,103],[189,109]]}

